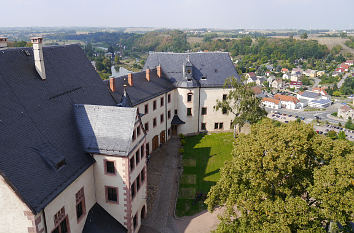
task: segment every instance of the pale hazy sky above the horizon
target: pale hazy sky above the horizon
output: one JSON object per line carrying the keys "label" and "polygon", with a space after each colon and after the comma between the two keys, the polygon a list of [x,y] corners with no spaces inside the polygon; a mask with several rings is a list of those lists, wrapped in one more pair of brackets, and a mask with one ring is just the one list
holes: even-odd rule
{"label": "pale hazy sky above the horizon", "polygon": [[354,0],[0,0],[0,27],[353,29]]}

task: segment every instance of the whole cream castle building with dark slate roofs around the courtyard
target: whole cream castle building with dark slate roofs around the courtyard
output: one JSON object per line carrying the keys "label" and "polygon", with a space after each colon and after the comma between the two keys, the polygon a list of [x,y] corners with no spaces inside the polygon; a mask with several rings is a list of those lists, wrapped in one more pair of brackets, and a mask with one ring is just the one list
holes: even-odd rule
{"label": "whole cream castle building with dark slate roofs around the courtyard", "polygon": [[172,135],[230,129],[213,109],[238,78],[227,53],[153,53],[144,71],[103,82],[78,45],[5,42],[0,232],[136,233],[147,156]]}

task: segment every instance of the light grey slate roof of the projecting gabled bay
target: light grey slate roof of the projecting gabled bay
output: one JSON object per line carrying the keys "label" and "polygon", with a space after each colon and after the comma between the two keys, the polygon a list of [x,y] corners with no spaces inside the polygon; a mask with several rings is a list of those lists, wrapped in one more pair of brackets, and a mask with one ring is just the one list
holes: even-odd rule
{"label": "light grey slate roof of the projecting gabled bay", "polygon": [[136,108],[76,104],[74,112],[87,152],[121,156],[129,154]]}

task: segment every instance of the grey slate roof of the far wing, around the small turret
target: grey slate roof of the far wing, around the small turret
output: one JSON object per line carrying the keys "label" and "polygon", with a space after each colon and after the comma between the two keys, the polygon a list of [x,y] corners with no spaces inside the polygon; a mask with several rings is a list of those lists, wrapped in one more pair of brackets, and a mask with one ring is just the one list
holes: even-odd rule
{"label": "grey slate roof of the far wing, around the small turret", "polygon": [[[193,82],[188,82],[183,77],[183,65],[188,57],[193,65]],[[163,74],[176,87],[222,87],[225,79],[231,76],[240,80],[229,54],[225,52],[152,52],[145,62],[144,70],[158,65],[161,65]],[[202,77],[206,79],[203,80]]]}

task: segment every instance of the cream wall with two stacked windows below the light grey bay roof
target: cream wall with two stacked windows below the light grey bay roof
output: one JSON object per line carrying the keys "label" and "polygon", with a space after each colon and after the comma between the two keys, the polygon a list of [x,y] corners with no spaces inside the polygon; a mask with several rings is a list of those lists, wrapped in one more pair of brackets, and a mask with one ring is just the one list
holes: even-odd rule
{"label": "cream wall with two stacked windows below the light grey bay roof", "polygon": [[[127,204],[125,201],[125,190],[127,187],[125,181],[126,165],[128,164],[127,157],[113,157],[105,155],[94,155],[96,163],[94,164],[94,176],[95,176],[95,190],[96,190],[96,200],[112,217],[114,217],[118,222],[127,227],[125,222],[125,210],[124,205]],[[104,160],[115,162],[116,175],[106,175]],[[105,186],[118,187],[118,204],[107,203]]]}

